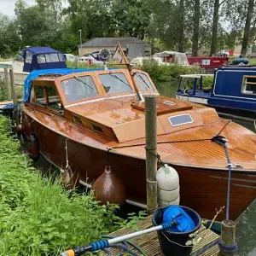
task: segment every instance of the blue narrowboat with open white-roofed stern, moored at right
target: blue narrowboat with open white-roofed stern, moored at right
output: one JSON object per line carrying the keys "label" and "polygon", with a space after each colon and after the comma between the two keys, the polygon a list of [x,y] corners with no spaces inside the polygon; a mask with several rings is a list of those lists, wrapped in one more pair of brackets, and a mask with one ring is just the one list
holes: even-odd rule
{"label": "blue narrowboat with open white-roofed stern, moored at right", "polygon": [[176,98],[208,105],[219,113],[255,119],[256,68],[219,67],[214,75],[181,75]]}

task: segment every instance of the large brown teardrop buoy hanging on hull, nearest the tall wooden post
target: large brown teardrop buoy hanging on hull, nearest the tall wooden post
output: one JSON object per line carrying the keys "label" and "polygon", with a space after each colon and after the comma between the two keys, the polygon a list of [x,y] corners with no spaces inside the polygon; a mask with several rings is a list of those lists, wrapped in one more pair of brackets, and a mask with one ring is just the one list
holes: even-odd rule
{"label": "large brown teardrop buoy hanging on hull, nearest the tall wooden post", "polygon": [[102,204],[110,202],[122,205],[125,203],[125,187],[111,172],[110,166],[105,167],[105,172],[92,184],[91,190],[96,200],[101,201]]}

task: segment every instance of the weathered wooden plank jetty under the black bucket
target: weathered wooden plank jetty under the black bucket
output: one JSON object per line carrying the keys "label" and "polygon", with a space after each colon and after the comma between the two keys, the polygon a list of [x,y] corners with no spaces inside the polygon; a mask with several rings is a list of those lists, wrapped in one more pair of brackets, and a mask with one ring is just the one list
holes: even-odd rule
{"label": "weathered wooden plank jetty under the black bucket", "polygon": [[[139,230],[148,229],[149,227],[152,227],[151,222],[152,216],[148,216],[147,218],[141,220],[138,222],[137,226]],[[120,230],[117,230],[109,236],[121,236],[125,234],[129,234],[131,232],[134,232],[134,230],[123,228]],[[202,247],[205,247],[208,243],[216,240],[218,238],[218,235],[212,230],[206,230],[206,228],[202,225],[201,229],[198,231],[198,233],[195,236],[195,241],[198,241],[197,245],[193,248],[193,251],[190,255],[195,255],[196,252],[198,252]],[[157,233],[152,232],[144,236],[136,237],[131,239],[132,242],[134,242],[138,247],[141,247],[143,250],[143,253],[147,256],[164,256],[163,253],[160,251],[160,244],[157,238]],[[118,255],[118,252],[116,249],[111,248],[110,249],[111,254]],[[137,253],[137,251],[134,251]],[[214,247],[207,250],[206,253],[201,254],[202,256],[215,256],[218,255],[218,245],[215,245]],[[107,255],[107,253],[101,253],[100,255]],[[127,254],[128,255],[128,254]]]}

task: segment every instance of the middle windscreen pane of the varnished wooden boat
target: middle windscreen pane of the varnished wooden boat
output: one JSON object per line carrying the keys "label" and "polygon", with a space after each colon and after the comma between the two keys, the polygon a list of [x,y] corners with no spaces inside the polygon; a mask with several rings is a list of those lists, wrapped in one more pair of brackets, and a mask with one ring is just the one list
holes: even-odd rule
{"label": "middle windscreen pane of the varnished wooden boat", "polygon": [[108,95],[132,91],[124,73],[102,74],[99,78]]}

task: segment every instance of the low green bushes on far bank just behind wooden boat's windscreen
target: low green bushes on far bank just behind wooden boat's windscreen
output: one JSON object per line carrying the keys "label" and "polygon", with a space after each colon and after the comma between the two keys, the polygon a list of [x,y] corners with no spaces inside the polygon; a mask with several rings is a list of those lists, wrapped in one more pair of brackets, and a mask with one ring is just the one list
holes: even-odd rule
{"label": "low green bushes on far bank just behind wooden boat's windscreen", "polygon": [[135,68],[142,69],[147,72],[150,77],[157,81],[170,81],[171,79],[178,79],[181,74],[189,73],[204,73],[199,66],[180,66],[180,65],[158,65],[155,61],[145,61],[142,66]]}

